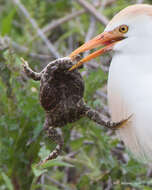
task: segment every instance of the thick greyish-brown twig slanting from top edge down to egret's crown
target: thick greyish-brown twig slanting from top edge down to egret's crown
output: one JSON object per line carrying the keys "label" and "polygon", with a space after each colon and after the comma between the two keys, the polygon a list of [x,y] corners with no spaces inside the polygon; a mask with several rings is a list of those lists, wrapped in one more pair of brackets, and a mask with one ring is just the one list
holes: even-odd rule
{"label": "thick greyish-brown twig slanting from top edge down to egret's crown", "polygon": [[92,16],[94,16],[100,23],[107,25],[109,20],[102,15],[101,13],[99,13],[96,8],[94,8],[89,2],[87,2],[86,0],[76,0],[80,5],[83,6],[84,9],[87,10],[87,12],[89,12]]}

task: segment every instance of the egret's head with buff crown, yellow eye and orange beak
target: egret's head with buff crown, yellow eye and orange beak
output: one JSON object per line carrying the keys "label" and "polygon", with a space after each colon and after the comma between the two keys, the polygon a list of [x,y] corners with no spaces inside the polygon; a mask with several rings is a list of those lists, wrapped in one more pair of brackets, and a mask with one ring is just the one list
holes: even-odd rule
{"label": "egret's head with buff crown, yellow eye and orange beak", "polygon": [[147,4],[129,6],[112,18],[103,33],[70,54],[71,59],[74,59],[79,53],[103,46],[80,60],[71,70],[111,50],[124,53],[151,53],[149,48],[152,46],[151,42],[152,6]]}

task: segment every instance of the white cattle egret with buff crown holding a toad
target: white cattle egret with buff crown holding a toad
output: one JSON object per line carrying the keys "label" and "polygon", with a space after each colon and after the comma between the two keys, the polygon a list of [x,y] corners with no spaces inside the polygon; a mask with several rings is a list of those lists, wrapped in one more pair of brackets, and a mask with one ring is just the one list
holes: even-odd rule
{"label": "white cattle egret with buff crown holding a toad", "polygon": [[152,160],[152,6],[138,4],[120,11],[105,31],[70,55],[104,46],[70,70],[110,50],[108,103],[113,122],[132,115],[117,133],[135,157]]}

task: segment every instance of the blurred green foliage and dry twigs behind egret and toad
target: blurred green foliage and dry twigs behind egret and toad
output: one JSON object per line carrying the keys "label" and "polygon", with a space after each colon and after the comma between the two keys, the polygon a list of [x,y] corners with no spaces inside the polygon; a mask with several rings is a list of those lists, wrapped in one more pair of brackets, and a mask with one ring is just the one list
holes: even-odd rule
{"label": "blurred green foliage and dry twigs behind egret and toad", "polygon": [[[0,0],[0,190],[150,190],[152,170],[127,152],[113,131],[86,118],[62,128],[64,150],[43,132],[35,71],[101,33],[124,7],[151,0]],[[84,54],[86,56],[86,53]],[[111,56],[85,64],[85,101],[109,118],[106,82]]]}

